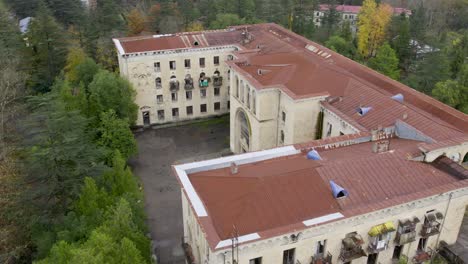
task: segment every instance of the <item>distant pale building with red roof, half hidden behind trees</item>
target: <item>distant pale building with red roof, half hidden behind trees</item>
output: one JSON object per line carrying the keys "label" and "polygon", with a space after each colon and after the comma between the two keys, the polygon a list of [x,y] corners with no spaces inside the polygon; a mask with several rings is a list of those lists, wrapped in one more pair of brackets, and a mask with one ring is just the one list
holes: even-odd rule
{"label": "distant pale building with red roof, half hidden behind trees", "polygon": [[[325,16],[326,12],[330,10],[330,5],[322,4],[319,5],[319,10],[314,11],[314,24],[317,27],[321,26],[321,22],[323,17]],[[352,5],[337,5],[336,11],[341,14],[341,22],[349,22],[351,25],[352,32],[356,32],[357,27],[357,17],[359,11],[361,10],[361,6],[352,6]],[[405,14],[407,17],[411,15],[411,10],[401,8],[401,7],[394,7],[393,8],[393,15],[401,15]]]}

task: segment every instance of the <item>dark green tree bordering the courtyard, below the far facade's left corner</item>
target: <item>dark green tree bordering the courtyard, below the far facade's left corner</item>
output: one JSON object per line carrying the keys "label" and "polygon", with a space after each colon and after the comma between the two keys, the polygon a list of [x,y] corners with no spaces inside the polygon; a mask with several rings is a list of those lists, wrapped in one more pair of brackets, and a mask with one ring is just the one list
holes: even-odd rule
{"label": "dark green tree bordering the courtyard, below the far facade's left corner", "polygon": [[114,110],[101,113],[97,144],[107,148],[111,154],[118,150],[125,160],[137,153],[128,121],[119,119]]}

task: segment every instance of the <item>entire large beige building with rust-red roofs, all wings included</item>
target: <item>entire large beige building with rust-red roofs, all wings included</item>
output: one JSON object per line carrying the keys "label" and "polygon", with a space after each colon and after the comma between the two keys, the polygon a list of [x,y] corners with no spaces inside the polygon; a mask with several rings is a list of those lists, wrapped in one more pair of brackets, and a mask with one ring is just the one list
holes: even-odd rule
{"label": "entire large beige building with rust-red roofs, all wings included", "polygon": [[276,24],[115,44],[140,125],[230,113],[244,154],[174,166],[194,263],[422,262],[456,240],[467,115]]}

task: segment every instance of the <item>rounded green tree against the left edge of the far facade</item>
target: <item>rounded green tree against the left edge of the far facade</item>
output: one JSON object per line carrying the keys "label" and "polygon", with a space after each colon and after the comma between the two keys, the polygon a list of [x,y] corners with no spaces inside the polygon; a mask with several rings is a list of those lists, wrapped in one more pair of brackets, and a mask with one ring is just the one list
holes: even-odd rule
{"label": "rounded green tree against the left edge of the far facade", "polygon": [[127,80],[101,70],[89,84],[89,94],[90,116],[97,117],[102,112],[114,110],[119,118],[128,120],[129,124],[135,123],[136,92]]}

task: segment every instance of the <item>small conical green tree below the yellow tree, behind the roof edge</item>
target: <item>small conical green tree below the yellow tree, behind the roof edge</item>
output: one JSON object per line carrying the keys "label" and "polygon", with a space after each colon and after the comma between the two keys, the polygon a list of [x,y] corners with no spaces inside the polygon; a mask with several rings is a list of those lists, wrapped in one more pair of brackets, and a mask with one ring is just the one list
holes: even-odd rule
{"label": "small conical green tree below the yellow tree, behind the roof edge", "polygon": [[377,55],[369,60],[368,65],[372,69],[387,75],[392,79],[398,80],[400,77],[398,57],[388,43],[383,44],[377,50]]}

